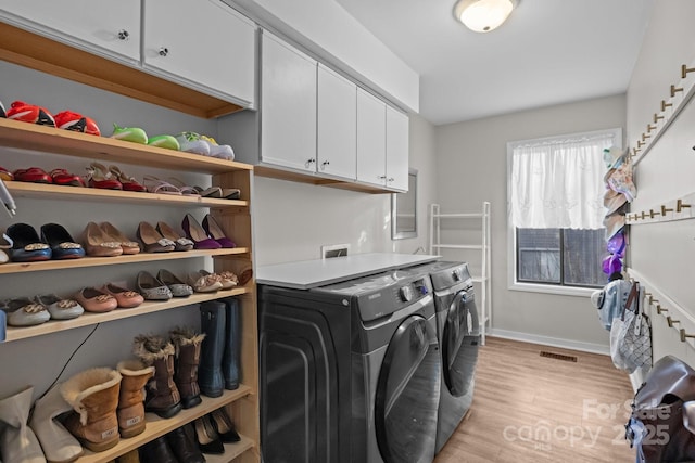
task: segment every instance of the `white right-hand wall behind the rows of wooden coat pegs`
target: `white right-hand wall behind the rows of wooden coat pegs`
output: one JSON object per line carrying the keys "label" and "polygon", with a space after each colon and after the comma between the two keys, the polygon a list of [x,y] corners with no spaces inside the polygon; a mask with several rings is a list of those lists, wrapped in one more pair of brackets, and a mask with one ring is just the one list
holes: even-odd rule
{"label": "white right-hand wall behind the rows of wooden coat pegs", "polygon": [[[695,60],[695,2],[688,0],[657,1],[645,35],[640,57],[628,89],[628,142],[635,141],[660,112],[661,100],[670,97],[669,88],[681,79],[682,64]],[[695,103],[691,102],[653,145],[635,168],[637,198],[632,211],[659,208],[660,204],[695,192],[692,172],[695,171]],[[631,146],[631,147],[632,147]],[[630,227],[630,267],[634,268],[659,296],[660,304],[673,320],[674,329],[665,317],[650,309],[653,320],[654,359],[670,353],[695,365],[695,350],[679,339],[678,329],[693,333],[695,324],[695,294],[692,291],[693,221],[635,224]],[[649,286],[647,285],[647,288]],[[678,313],[671,303],[684,308]],[[688,322],[690,319],[690,322]]]}

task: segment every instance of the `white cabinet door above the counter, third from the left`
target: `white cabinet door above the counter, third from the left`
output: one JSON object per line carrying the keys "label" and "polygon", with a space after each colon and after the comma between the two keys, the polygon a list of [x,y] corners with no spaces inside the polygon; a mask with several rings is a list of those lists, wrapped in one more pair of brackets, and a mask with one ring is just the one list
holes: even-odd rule
{"label": "white cabinet door above the counter, third from the left", "polygon": [[357,89],[357,180],[386,185],[387,105]]}

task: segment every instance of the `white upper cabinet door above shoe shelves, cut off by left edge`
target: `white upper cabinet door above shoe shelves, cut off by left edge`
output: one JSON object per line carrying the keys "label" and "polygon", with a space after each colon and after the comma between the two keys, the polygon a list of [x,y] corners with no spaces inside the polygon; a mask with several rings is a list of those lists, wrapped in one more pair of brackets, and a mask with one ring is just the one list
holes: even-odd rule
{"label": "white upper cabinet door above shoe shelves, cut off by left edge", "polygon": [[0,0],[0,16],[94,54],[140,61],[140,0]]}

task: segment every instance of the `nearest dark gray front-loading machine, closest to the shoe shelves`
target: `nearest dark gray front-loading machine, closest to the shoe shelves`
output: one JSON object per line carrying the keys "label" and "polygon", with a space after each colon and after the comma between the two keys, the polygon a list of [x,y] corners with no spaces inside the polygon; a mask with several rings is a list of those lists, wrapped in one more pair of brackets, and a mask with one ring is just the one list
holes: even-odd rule
{"label": "nearest dark gray front-loading machine, closest to the shoe shelves", "polygon": [[441,355],[427,274],[261,285],[265,463],[430,463]]}

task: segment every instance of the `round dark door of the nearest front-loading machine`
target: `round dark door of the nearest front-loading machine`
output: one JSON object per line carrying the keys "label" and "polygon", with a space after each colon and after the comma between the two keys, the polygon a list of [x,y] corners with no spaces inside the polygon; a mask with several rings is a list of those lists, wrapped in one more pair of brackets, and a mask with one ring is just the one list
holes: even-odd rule
{"label": "round dark door of the nearest front-loading machine", "polygon": [[421,316],[399,325],[387,348],[375,400],[375,425],[386,463],[434,459],[441,386],[437,333]]}

